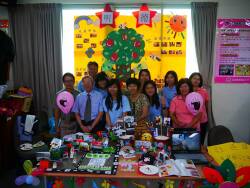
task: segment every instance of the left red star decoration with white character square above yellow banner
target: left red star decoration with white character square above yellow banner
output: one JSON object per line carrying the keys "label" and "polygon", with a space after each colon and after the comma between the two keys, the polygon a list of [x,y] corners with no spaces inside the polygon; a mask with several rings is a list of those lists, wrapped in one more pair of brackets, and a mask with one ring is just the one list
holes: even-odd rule
{"label": "left red star decoration with white character square above yellow banner", "polygon": [[110,4],[106,4],[104,11],[97,12],[96,16],[100,19],[100,28],[103,28],[107,25],[115,28],[115,19],[119,16],[119,12],[112,11]]}

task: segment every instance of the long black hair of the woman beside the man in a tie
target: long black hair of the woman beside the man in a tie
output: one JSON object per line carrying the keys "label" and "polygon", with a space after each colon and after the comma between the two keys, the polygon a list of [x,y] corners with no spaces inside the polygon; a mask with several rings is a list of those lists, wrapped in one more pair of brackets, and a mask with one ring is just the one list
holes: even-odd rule
{"label": "long black hair of the woman beside the man in a tie", "polygon": [[[121,106],[122,106],[122,90],[121,90],[121,85],[118,79],[111,79],[108,81],[108,85],[107,88],[111,87],[112,85],[116,85],[116,87],[118,88],[117,90],[117,96],[116,96],[116,100],[117,100],[117,106],[116,106],[116,110],[118,110]],[[111,94],[108,91],[108,95],[105,99],[105,105],[107,107],[108,110],[112,110],[113,108],[113,99]]]}

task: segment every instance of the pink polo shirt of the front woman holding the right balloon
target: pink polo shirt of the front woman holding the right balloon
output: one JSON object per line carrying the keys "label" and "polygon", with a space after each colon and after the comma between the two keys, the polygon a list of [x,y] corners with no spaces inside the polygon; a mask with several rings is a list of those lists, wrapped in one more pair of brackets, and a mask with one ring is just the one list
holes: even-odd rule
{"label": "pink polo shirt of the front woman holding the right balloon", "polygon": [[[187,106],[185,104],[185,99],[177,95],[176,97],[173,98],[170,104],[169,111],[171,113],[175,113],[176,118],[183,123],[183,125],[175,125],[174,128],[190,128],[187,127],[186,124],[189,124],[193,118],[194,115],[188,111]],[[197,130],[200,130],[200,122],[196,124]]]}

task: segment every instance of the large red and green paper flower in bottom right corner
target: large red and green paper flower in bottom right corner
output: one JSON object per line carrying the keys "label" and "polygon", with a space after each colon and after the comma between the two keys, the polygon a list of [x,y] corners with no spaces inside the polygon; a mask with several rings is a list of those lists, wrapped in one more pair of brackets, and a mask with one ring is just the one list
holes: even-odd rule
{"label": "large red and green paper flower in bottom right corner", "polygon": [[208,185],[202,186],[203,188],[250,187],[250,166],[235,171],[235,166],[229,159],[223,161],[216,169],[204,167],[203,174],[209,182]]}

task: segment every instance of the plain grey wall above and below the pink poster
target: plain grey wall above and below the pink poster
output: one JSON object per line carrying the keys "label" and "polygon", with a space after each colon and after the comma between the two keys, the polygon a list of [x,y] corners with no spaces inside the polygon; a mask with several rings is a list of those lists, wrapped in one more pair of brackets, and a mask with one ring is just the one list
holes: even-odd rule
{"label": "plain grey wall above and below the pink poster", "polygon": [[[249,0],[220,0],[218,18],[250,18]],[[236,141],[250,143],[250,84],[213,84],[213,112]]]}

